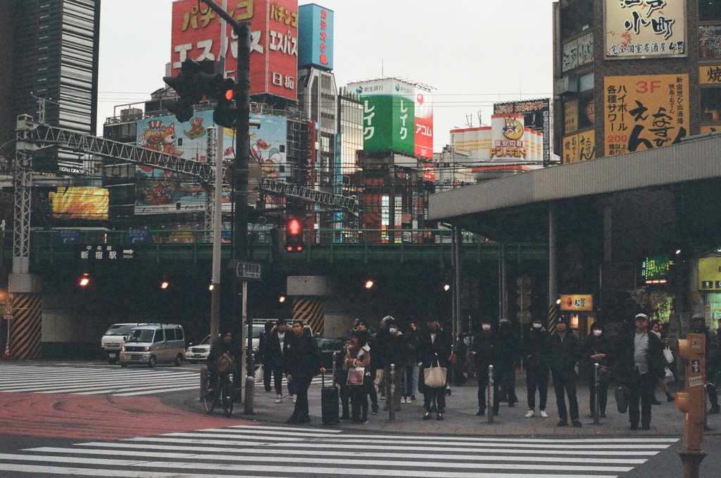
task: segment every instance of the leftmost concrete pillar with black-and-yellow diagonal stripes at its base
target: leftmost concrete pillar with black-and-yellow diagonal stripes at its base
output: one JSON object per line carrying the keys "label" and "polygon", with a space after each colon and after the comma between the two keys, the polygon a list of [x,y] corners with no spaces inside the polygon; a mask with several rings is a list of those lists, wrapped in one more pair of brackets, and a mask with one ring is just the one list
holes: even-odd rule
{"label": "leftmost concrete pillar with black-and-yellow diagonal stripes at its base", "polygon": [[13,306],[10,355],[17,360],[40,358],[43,324],[40,276],[10,274],[7,290],[12,293]]}

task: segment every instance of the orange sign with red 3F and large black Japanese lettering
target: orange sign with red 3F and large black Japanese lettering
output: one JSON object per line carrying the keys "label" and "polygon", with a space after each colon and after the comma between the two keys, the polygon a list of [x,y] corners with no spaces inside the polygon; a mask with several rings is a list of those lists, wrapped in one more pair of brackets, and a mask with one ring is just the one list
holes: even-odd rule
{"label": "orange sign with red 3F and large black Japanese lettering", "polygon": [[689,75],[606,76],[606,156],[678,143],[689,132]]}

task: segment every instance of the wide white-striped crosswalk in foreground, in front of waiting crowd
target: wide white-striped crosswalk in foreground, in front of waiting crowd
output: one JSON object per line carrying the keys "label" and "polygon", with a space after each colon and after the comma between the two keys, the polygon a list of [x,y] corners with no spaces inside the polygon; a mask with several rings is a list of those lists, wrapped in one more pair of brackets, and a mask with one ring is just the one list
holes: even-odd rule
{"label": "wide white-striped crosswalk in foreground, in front of waiting crowd", "polygon": [[386,435],[237,425],[0,453],[0,476],[611,478],[676,438]]}

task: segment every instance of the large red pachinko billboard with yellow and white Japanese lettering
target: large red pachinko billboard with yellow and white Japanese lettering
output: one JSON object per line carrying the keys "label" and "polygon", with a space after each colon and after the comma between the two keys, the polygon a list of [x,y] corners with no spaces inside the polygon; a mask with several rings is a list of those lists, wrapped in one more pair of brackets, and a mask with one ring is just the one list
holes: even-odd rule
{"label": "large red pachinko billboard with yellow and white Japanese lettering", "polygon": [[[220,17],[198,0],[174,1],[172,8],[171,74],[180,73],[186,58],[217,61]],[[233,1],[228,13],[239,22],[250,23],[250,94],[296,99],[298,1]],[[226,35],[226,72],[235,78],[238,40],[231,27],[227,27]]]}

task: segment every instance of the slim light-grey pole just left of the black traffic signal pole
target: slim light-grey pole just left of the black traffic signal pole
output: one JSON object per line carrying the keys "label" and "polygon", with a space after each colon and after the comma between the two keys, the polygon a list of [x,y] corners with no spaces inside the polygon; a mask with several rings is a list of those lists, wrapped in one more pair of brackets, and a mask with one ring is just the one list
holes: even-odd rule
{"label": "slim light-grey pole just left of the black traffic signal pole", "polygon": [[[223,0],[223,11],[228,11],[228,0]],[[225,53],[228,50],[226,21],[221,18],[221,52],[218,55],[221,73],[225,77]],[[213,198],[213,272],[211,277],[211,342],[220,331],[221,317],[221,227],[223,208],[223,127],[216,126],[216,187]]]}

